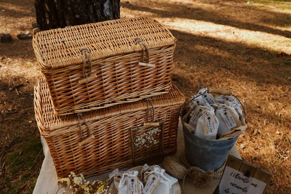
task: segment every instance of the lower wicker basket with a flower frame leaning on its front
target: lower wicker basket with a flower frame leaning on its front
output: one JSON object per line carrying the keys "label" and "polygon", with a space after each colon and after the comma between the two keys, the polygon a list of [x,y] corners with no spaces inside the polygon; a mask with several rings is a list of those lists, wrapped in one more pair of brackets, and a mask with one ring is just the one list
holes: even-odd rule
{"label": "lower wicker basket with a flower frame leaning on its front", "polygon": [[[45,79],[41,79],[35,86],[34,103],[38,128],[48,144],[56,174],[65,177],[71,171],[85,176],[102,174],[176,152],[179,112],[184,101],[184,95],[172,83],[169,93],[145,101],[83,115],[56,116]],[[136,146],[135,138],[153,129],[143,126],[149,117],[159,122],[160,132],[152,135],[157,143]]]}

